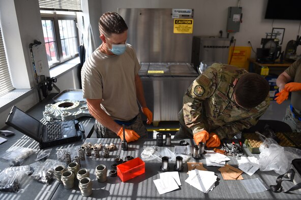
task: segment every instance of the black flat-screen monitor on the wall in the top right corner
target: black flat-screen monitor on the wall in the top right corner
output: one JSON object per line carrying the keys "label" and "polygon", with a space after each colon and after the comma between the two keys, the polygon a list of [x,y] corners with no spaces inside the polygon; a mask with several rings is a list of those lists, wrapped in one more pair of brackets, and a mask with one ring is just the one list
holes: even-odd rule
{"label": "black flat-screen monitor on the wall in the top right corner", "polygon": [[268,0],[264,18],[301,20],[301,0]]}

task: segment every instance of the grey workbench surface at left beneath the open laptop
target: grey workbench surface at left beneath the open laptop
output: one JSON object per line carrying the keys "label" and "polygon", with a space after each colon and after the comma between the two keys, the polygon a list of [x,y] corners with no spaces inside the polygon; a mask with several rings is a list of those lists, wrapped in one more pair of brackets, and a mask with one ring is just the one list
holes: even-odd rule
{"label": "grey workbench surface at left beneath the open laptop", "polygon": [[[43,111],[45,110],[45,105],[53,103],[52,97],[55,94],[50,94],[48,98],[43,99],[42,102],[34,106],[32,109],[30,109],[27,114],[31,115],[32,117],[41,120],[43,122]],[[7,115],[8,113],[2,113],[3,115]],[[46,149],[52,148],[50,159],[56,159],[56,149],[58,148],[67,148],[71,146],[81,145],[82,142],[87,138],[91,137],[93,133],[93,127],[95,119],[93,117],[81,117],[78,119],[79,122],[81,122],[85,128],[85,134],[82,136],[82,140],[79,140],[74,143],[68,143],[66,145],[59,145],[54,147],[49,147]],[[28,147],[32,149],[39,150],[39,144],[35,140],[29,138],[28,136],[22,134],[21,132],[15,130],[12,127],[3,128],[7,130],[11,130],[15,132],[15,135],[4,137],[3,135],[1,137],[7,139],[8,141],[0,145],[0,155],[3,155],[6,150],[11,148],[12,146],[15,147]],[[37,154],[32,154],[27,159],[24,160],[23,165],[31,164],[35,162],[35,159],[37,158]],[[3,171],[5,168],[9,167],[8,162],[0,161],[0,172]],[[21,182],[20,189],[17,193],[11,193],[11,192],[0,192],[0,199],[51,199],[54,195],[57,187],[59,184],[55,181],[52,182],[51,185],[46,185],[39,183],[35,180],[33,180],[31,177],[25,177],[25,179]]]}

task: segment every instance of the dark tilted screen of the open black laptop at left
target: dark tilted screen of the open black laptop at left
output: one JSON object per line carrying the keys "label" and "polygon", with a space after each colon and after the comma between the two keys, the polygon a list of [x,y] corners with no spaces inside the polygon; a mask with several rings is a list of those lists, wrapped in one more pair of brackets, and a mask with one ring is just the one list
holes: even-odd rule
{"label": "dark tilted screen of the open black laptop at left", "polygon": [[12,125],[15,129],[23,132],[25,135],[37,141],[41,141],[39,136],[41,122],[19,110],[17,107],[12,109],[8,122],[10,123],[9,125]]}

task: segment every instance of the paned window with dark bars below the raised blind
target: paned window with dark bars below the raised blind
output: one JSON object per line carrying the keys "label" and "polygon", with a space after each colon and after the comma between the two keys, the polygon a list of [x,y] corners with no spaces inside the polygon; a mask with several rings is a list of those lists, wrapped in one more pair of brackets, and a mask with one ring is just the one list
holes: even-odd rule
{"label": "paned window with dark bars below the raised blind", "polygon": [[78,56],[76,15],[52,12],[41,16],[49,67]]}

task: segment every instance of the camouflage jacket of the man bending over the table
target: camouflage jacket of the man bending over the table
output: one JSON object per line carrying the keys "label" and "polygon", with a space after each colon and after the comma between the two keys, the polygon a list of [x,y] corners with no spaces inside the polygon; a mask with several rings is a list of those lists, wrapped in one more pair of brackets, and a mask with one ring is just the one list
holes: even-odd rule
{"label": "camouflage jacket of the man bending over the table", "polygon": [[220,139],[232,138],[255,125],[269,105],[269,96],[251,110],[237,106],[233,82],[245,73],[248,72],[235,66],[214,63],[187,89],[179,122],[191,128],[193,134],[205,129]]}

